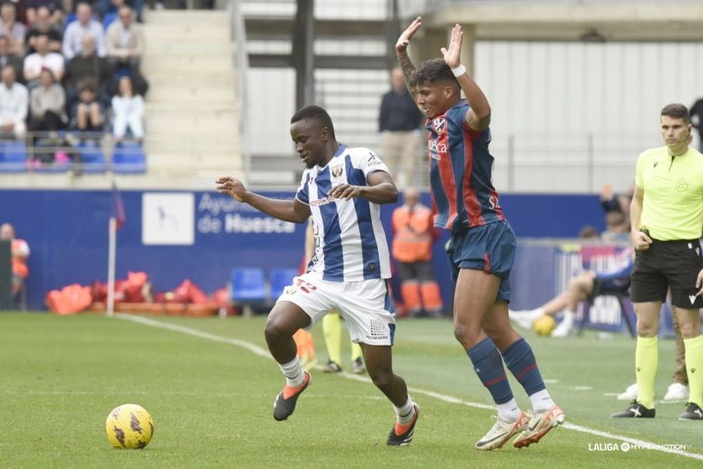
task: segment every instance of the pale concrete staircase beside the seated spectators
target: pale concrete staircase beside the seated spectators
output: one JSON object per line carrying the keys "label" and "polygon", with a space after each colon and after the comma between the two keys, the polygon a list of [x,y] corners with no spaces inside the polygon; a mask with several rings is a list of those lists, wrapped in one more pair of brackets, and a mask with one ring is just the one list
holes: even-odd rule
{"label": "pale concrete staircase beside the seated spectators", "polygon": [[243,171],[227,11],[146,11],[144,149],[152,176],[191,179]]}

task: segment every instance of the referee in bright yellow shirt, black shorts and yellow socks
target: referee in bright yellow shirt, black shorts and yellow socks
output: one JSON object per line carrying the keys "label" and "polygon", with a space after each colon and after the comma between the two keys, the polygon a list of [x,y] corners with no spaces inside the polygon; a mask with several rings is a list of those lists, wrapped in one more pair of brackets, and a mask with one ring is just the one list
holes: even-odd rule
{"label": "referee in bright yellow shirt, black shorts and yellow socks", "polygon": [[630,206],[636,252],[631,298],[637,313],[637,399],[612,417],[654,417],[659,310],[671,288],[685,347],[689,398],[679,420],[703,420],[703,155],[690,148],[691,120],[683,104],[662,109],[666,146],[640,154]]}

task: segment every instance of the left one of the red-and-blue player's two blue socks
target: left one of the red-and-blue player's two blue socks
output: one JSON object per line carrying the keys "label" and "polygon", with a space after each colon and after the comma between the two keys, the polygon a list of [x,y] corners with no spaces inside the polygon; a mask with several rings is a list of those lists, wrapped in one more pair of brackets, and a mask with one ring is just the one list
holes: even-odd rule
{"label": "left one of the red-and-blue player's two blue socks", "polygon": [[512,390],[505,375],[501,352],[498,352],[493,340],[485,338],[466,351],[474,366],[474,371],[481,383],[488,388],[496,404],[505,404],[512,400]]}

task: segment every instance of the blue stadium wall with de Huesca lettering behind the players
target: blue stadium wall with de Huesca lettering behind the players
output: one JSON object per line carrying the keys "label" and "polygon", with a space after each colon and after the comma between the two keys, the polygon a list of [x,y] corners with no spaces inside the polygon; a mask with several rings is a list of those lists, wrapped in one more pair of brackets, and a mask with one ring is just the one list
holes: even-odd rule
{"label": "blue stadium wall with de Huesca lettering behind the players", "polygon": [[[235,266],[296,267],[302,259],[304,225],[279,222],[214,192],[122,192],[127,220],[117,231],[117,278],[146,271],[157,291],[172,290],[184,278],[207,293],[226,284]],[[291,193],[265,193],[290,198]],[[423,195],[430,203],[429,195]],[[504,195],[508,218],[520,237],[574,237],[581,226],[603,228],[597,195]],[[32,250],[27,304],[44,309],[49,290],[70,283],[106,281],[111,191],[0,191],[0,222],[15,225]],[[382,219],[390,226],[392,206]],[[387,229],[390,235],[390,230]],[[446,304],[451,281],[443,252],[447,234],[434,247],[434,267]],[[515,304],[546,300],[554,292],[550,255],[518,252],[512,278]],[[533,275],[539,271],[535,281]],[[524,285],[531,278],[529,285]],[[518,286],[522,285],[522,286]],[[398,289],[396,288],[396,291]],[[529,295],[529,297],[528,297]],[[538,303],[537,303],[538,304]]]}

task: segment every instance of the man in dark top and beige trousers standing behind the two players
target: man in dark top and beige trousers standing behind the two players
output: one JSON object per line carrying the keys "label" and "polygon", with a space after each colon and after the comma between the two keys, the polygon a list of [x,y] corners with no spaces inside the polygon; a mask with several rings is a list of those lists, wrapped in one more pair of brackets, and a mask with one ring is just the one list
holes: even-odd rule
{"label": "man in dark top and beige trousers standing behind the two players", "polygon": [[399,68],[391,71],[391,87],[383,95],[378,117],[381,156],[393,178],[400,182],[399,186],[411,185],[415,175],[415,161],[418,159],[422,115],[408,92],[403,71]]}

